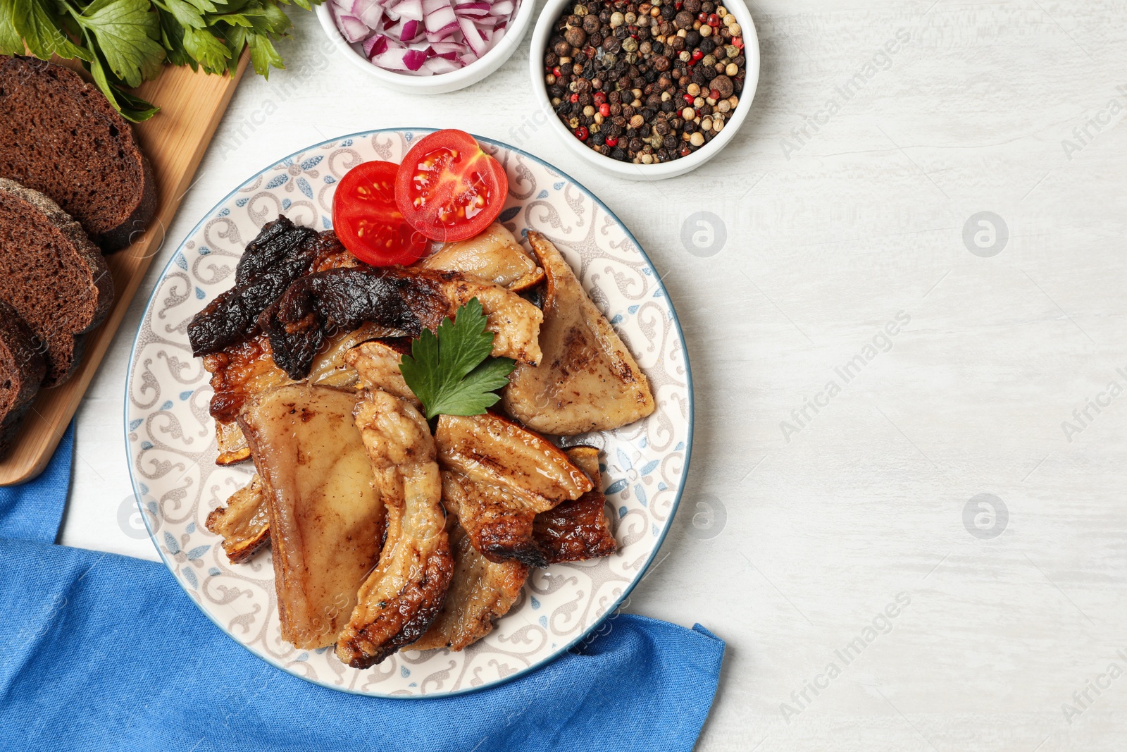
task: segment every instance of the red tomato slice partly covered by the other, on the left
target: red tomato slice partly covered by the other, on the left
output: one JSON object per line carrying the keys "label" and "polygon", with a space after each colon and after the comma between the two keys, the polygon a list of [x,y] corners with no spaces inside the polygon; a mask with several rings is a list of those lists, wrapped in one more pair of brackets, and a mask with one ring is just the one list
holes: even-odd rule
{"label": "red tomato slice partly covered by the other, on the left", "polygon": [[332,229],[348,251],[372,266],[410,264],[429,241],[411,229],[396,204],[393,162],[364,162],[340,178],[332,196]]}

